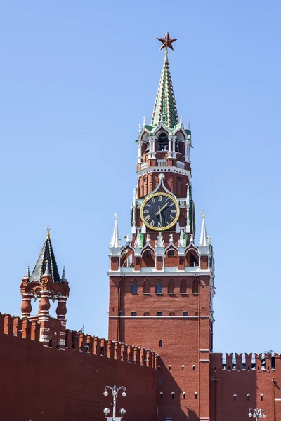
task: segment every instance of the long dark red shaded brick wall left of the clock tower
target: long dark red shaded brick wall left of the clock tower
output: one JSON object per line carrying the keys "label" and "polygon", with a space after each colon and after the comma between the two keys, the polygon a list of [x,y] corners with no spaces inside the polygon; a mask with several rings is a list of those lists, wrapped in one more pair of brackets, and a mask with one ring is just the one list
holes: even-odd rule
{"label": "long dark red shaded brick wall left of the clock tower", "polygon": [[[127,361],[123,358],[127,348],[111,342],[108,358],[104,354],[107,341],[75,334],[77,341],[72,342],[70,331],[65,350],[46,347],[31,339],[33,330],[30,338],[22,338],[25,332],[16,333],[13,323],[10,329],[10,323],[0,314],[1,420],[102,421],[103,408],[112,408],[112,396],[103,396],[104,387],[115,383],[127,388],[126,398],[117,399],[117,408],[127,410],[124,420],[157,420],[157,372],[152,368],[156,356],[150,353],[150,363],[145,363],[144,351],[136,349],[138,362],[134,363],[133,354]],[[87,342],[94,347],[80,351],[80,344]],[[76,349],[72,349],[72,343]],[[93,354],[95,347],[100,350],[97,355]],[[141,353],[143,365],[139,361]]]}

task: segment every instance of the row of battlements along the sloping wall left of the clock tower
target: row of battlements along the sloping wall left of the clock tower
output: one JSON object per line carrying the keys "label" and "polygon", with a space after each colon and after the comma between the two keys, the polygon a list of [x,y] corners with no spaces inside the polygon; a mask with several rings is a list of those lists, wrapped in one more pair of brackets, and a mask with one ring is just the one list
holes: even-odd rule
{"label": "row of battlements along the sloping wall left of the clock tower", "polygon": [[64,349],[69,352],[84,352],[99,358],[115,359],[157,369],[158,354],[150,349],[86,335],[74,330],[65,331],[65,346],[50,341],[48,345],[40,340],[40,323],[35,320],[22,319],[19,316],[0,313],[0,335],[11,335],[26,340],[39,342],[42,347]]}

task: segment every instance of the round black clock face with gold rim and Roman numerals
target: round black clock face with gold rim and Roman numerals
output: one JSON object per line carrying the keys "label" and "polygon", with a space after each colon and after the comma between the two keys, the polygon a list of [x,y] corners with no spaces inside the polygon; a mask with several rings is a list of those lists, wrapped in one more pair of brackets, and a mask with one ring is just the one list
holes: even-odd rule
{"label": "round black clock face with gold rim and Roman numerals", "polygon": [[173,227],[180,215],[178,202],[167,193],[148,196],[141,206],[141,219],[150,229],[165,231]]}

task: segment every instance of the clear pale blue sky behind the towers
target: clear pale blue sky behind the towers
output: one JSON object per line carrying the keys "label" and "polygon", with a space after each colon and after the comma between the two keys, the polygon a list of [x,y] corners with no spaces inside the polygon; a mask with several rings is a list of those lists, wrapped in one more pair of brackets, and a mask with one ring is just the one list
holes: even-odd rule
{"label": "clear pale blue sky behind the towers", "polygon": [[113,215],[123,238],[169,30],[216,258],[214,350],[281,352],[280,13],[277,0],[2,2],[1,312],[20,314],[50,225],[68,327],[107,337]]}

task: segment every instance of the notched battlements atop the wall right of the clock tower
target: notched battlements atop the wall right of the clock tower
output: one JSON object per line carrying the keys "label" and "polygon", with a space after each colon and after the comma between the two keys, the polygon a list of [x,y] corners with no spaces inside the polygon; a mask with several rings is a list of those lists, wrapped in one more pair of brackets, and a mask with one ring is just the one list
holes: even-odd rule
{"label": "notched battlements atop the wall right of the clock tower", "polygon": [[212,354],[211,365],[221,370],[256,370],[271,371],[275,370],[277,361],[281,360],[281,354],[275,352],[256,353],[230,353],[230,354]]}

